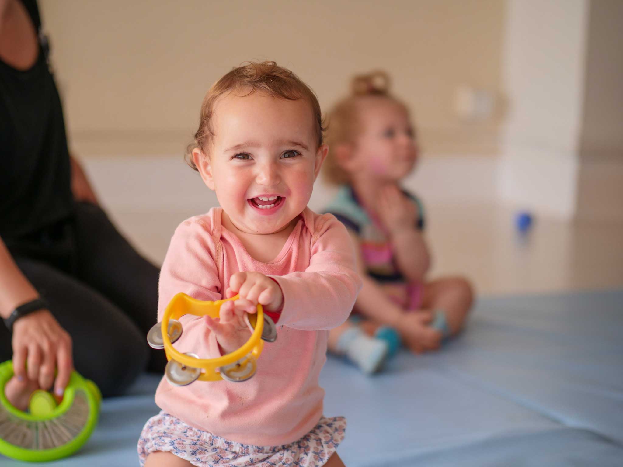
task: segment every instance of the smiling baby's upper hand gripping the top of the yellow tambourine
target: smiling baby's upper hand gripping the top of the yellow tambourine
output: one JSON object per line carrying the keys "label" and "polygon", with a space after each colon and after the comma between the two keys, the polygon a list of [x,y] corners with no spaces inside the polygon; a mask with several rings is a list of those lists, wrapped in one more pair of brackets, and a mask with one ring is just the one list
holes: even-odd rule
{"label": "smiling baby's upper hand gripping the top of the yellow tambourine", "polygon": [[236,294],[254,306],[261,304],[268,311],[279,311],[283,306],[283,293],[277,282],[257,272],[239,272],[232,274],[227,297]]}

